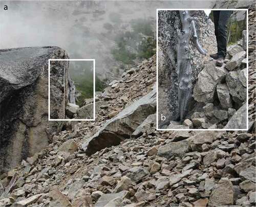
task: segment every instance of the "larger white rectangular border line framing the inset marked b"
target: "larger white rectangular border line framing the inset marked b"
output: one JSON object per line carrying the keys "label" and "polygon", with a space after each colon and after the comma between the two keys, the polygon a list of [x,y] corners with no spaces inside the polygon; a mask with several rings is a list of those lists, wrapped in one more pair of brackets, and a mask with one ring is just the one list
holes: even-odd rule
{"label": "larger white rectangular border line framing the inset marked b", "polygon": [[[204,11],[204,10],[236,10],[236,11],[246,11],[246,60],[247,60],[247,63],[246,63],[246,66],[247,66],[247,79],[246,79],[246,86],[247,86],[247,89],[246,89],[246,104],[247,104],[247,107],[246,107],[246,129],[159,129],[158,128],[158,11],[180,11],[180,10],[201,10],[201,11]],[[249,126],[249,120],[248,120],[248,41],[249,41],[249,31],[248,31],[248,9],[156,9],[156,37],[157,37],[157,131],[247,131],[248,130],[248,126]]]}

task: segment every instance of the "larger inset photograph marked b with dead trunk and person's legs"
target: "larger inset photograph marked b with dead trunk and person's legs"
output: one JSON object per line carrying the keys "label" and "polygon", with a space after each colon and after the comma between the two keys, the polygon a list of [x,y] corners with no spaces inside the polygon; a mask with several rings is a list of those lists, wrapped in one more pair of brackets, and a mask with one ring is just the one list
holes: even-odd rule
{"label": "larger inset photograph marked b with dead trunk and person's legs", "polygon": [[246,130],[247,9],[157,9],[157,129]]}

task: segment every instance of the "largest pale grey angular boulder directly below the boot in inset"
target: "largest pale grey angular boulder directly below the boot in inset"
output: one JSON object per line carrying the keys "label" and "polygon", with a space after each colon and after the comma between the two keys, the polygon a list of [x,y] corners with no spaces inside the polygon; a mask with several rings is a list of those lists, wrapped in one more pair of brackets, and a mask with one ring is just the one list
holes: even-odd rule
{"label": "largest pale grey angular boulder directly below the boot in inset", "polygon": [[227,73],[228,71],[224,66],[217,67],[214,62],[209,62],[204,65],[203,70],[198,75],[198,80],[194,87],[194,99],[197,102],[203,103],[211,103],[214,101],[216,85],[225,80]]}

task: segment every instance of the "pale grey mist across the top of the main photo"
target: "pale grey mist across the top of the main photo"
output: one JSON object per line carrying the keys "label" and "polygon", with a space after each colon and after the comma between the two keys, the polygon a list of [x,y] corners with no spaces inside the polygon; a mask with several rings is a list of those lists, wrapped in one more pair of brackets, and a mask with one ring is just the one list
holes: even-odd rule
{"label": "pale grey mist across the top of the main photo", "polygon": [[[214,1],[12,1],[0,2],[0,49],[53,45],[70,58],[96,59],[104,77],[117,65],[115,36],[146,19],[156,30],[157,8],[211,8]],[[155,33],[155,32],[154,32]]]}

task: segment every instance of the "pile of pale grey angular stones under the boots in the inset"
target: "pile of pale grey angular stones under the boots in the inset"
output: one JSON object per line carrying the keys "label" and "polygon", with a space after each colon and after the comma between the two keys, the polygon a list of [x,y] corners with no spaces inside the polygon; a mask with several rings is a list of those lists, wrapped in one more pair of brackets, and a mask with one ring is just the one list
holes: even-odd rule
{"label": "pile of pale grey angular stones under the boots in the inset", "polygon": [[168,128],[246,129],[247,60],[240,43],[227,50],[223,66],[209,60],[199,73],[193,91],[195,108],[180,124]]}

